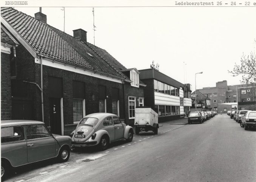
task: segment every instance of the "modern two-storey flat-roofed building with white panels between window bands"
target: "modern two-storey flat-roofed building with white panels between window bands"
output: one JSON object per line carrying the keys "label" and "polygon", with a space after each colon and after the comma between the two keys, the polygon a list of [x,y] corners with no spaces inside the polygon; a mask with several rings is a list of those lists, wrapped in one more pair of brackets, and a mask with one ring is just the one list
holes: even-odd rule
{"label": "modern two-storey flat-roofed building with white panels between window bands", "polygon": [[[140,79],[147,86],[144,89],[145,106],[151,107],[159,115],[159,122],[184,117],[184,107],[191,107],[190,87],[168,77],[154,68],[139,70]],[[187,84],[189,85],[189,84]],[[190,94],[188,94],[190,93]]]}

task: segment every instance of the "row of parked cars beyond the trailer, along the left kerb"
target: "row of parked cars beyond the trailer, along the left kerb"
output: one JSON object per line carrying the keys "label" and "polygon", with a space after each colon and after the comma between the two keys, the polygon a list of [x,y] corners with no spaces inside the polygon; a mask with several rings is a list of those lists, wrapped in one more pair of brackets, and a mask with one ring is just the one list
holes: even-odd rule
{"label": "row of parked cars beyond the trailer, along the left kerb", "polygon": [[190,112],[188,115],[188,124],[191,123],[204,123],[204,121],[210,120],[210,118],[217,115],[216,111],[196,111]]}

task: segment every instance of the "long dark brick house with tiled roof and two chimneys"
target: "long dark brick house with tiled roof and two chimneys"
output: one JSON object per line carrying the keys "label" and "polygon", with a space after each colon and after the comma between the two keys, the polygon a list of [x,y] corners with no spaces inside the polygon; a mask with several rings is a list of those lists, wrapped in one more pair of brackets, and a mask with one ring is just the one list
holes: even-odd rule
{"label": "long dark brick house with tiled roof and two chimneys", "polygon": [[129,96],[139,104],[146,85],[138,72],[136,78],[125,74],[127,68],[106,50],[87,42],[85,30],[71,36],[49,26],[42,12],[33,18],[8,7],[1,8],[1,22],[20,44],[11,79],[12,119],[43,121],[60,135],[95,112],[133,124]]}

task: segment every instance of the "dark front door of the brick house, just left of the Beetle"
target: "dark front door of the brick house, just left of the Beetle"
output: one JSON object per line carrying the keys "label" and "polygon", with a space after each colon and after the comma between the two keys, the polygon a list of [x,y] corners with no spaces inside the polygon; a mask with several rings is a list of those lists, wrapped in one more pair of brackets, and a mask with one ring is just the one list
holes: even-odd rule
{"label": "dark front door of the brick house, just left of the Beetle", "polygon": [[62,135],[61,130],[61,112],[60,112],[60,98],[50,98],[50,126],[51,132],[57,135]]}

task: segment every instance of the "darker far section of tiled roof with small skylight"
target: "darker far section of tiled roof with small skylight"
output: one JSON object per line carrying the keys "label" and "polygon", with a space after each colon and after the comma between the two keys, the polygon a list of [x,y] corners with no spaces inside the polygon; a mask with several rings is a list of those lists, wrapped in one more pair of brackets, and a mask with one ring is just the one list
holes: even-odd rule
{"label": "darker far section of tiled roof with small skylight", "polygon": [[119,71],[119,69],[116,68],[117,66],[114,66],[116,64],[118,65],[118,67],[121,67],[120,65],[122,64],[116,61],[111,55],[106,54],[107,53],[106,51],[103,51],[99,47],[93,46],[88,42],[83,42],[80,39],[75,38],[54,27],[51,27],[51,29],[54,30],[54,32],[56,32],[63,40],[68,42],[68,44],[74,50],[76,50],[76,52],[79,53],[83,57],[83,59],[85,59],[96,70],[102,71],[104,73],[107,73],[113,76],[118,76],[124,79],[128,79],[123,73]]}

